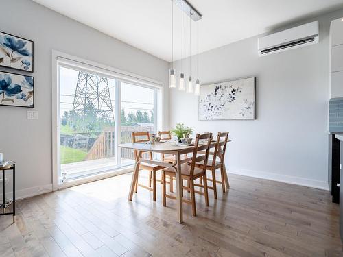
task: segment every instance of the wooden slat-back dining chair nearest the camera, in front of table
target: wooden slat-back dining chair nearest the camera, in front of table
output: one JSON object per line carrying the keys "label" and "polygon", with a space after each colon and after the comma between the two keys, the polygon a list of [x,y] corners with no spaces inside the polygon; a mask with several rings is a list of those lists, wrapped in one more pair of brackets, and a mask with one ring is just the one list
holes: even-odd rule
{"label": "wooden slat-back dining chair nearest the camera, in front of table", "polygon": [[[206,140],[206,143],[201,144],[199,143],[200,140]],[[191,193],[191,201],[188,199],[183,198],[183,193],[182,193],[182,201],[191,204],[192,206],[192,212],[193,216],[196,216],[196,195],[195,193],[200,193],[201,195],[204,195],[205,197],[205,204],[206,206],[209,206],[209,193],[207,191],[207,179],[206,179],[206,169],[200,169],[196,167],[196,162],[204,162],[205,167],[207,164],[207,160],[209,158],[209,148],[211,145],[211,140],[212,140],[212,134],[196,134],[196,140],[194,143],[194,150],[193,150],[193,156],[191,158],[185,159],[185,164],[180,164],[180,171],[181,171],[181,178],[182,178],[182,191],[183,189],[186,189]],[[200,154],[200,152],[205,151],[205,154]],[[191,159],[191,165],[187,165],[188,159]],[[174,168],[169,167],[163,169],[163,206],[166,206],[166,199],[176,199],[174,195],[167,195],[166,193],[166,183],[165,183],[165,178],[166,176],[171,176],[176,178],[176,172]],[[198,178],[204,178],[204,192],[202,191],[196,191],[194,186],[194,180]],[[187,180],[187,186],[183,186],[183,180]]]}

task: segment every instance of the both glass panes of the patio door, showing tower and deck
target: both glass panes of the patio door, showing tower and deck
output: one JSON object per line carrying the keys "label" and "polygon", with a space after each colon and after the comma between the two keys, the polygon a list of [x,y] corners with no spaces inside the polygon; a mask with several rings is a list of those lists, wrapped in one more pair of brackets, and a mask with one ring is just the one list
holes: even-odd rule
{"label": "both glass panes of the patio door, showing tower and deck", "polygon": [[58,64],[58,183],[133,163],[132,131],[157,131],[158,87]]}

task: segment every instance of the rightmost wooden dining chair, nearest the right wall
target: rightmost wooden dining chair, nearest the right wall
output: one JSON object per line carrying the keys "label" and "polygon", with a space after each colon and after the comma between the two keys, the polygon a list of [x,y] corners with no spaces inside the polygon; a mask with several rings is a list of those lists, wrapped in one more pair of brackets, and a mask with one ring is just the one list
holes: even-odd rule
{"label": "rightmost wooden dining chair, nearest the right wall", "polygon": [[[208,160],[207,164],[204,164],[204,161],[196,163],[196,167],[200,169],[204,169],[204,167],[206,167],[206,170],[211,171],[212,178],[207,178],[207,180],[211,181],[213,186],[207,186],[207,188],[213,190],[215,199],[217,199],[217,183],[222,184],[223,193],[225,193],[225,172],[226,171],[224,169],[224,157],[225,157],[227,143],[228,143],[228,132],[218,132],[217,140],[215,141],[214,151],[210,153],[210,155],[213,155],[213,159]],[[221,180],[216,179],[215,171],[217,169],[220,169]],[[196,184],[196,186],[203,187],[201,179],[200,179],[200,184]],[[230,185],[227,185],[227,186],[230,187]]]}

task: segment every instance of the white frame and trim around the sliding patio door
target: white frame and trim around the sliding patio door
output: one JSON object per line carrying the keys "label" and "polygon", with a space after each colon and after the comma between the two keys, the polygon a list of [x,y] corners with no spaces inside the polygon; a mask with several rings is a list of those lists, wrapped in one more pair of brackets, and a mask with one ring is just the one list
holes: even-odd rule
{"label": "white frame and trim around the sliding patio door", "polygon": [[[116,154],[117,154],[117,169],[111,169],[95,175],[88,176],[87,178],[75,179],[72,182],[61,184],[59,182],[60,177],[60,67],[67,69],[74,69],[77,71],[86,71],[89,73],[106,76],[111,79],[116,79],[115,86],[115,123],[116,123]],[[161,115],[162,109],[162,97],[163,97],[163,83],[154,79],[142,77],[134,73],[128,73],[121,71],[110,66],[98,64],[90,60],[71,56],[67,53],[53,50],[51,53],[51,86],[52,86],[52,180],[53,191],[59,188],[68,186],[74,186],[76,184],[82,184],[85,182],[91,182],[102,178],[108,178],[113,175],[119,175],[122,173],[130,172],[132,164],[125,166],[121,164],[121,151],[118,147],[121,137],[121,82],[132,84],[134,86],[142,86],[154,90],[154,132],[161,128]]]}

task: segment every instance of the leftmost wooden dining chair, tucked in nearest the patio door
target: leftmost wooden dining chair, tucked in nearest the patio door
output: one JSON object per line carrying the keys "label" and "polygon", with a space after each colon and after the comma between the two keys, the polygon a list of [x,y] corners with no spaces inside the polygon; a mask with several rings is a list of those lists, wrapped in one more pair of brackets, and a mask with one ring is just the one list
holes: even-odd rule
{"label": "leftmost wooden dining chair, tucked in nearest the patio door", "polygon": [[[145,143],[150,141],[150,135],[149,132],[132,132],[132,143]],[[134,158],[136,159],[137,157],[137,151],[134,151]],[[152,152],[147,151],[145,154],[149,155],[149,159],[152,160]],[[138,186],[141,186],[147,190],[152,191],[152,198],[154,201],[156,201],[156,181],[161,181],[162,180],[156,180],[156,171],[159,171],[163,169],[162,166],[158,166],[155,164],[139,164],[139,169],[147,170],[149,171],[149,186],[145,186],[143,184],[138,183],[138,175],[137,175],[137,182],[135,185],[135,192],[137,193],[137,188]]]}

